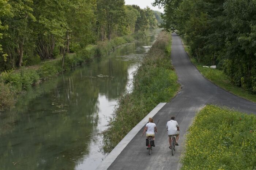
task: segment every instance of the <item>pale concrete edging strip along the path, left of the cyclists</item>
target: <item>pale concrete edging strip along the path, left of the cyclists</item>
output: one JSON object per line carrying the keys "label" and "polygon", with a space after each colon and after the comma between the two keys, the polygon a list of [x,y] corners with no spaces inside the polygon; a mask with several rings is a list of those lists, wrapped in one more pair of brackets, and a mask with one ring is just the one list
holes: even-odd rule
{"label": "pale concrete edging strip along the path, left of the cyclists", "polygon": [[96,170],[106,170],[123,151],[136,134],[148,123],[148,117],[153,117],[166,103],[159,103],[142,121],[140,121],[126,136],[117,144],[117,146],[108,154],[108,156],[99,164]]}

